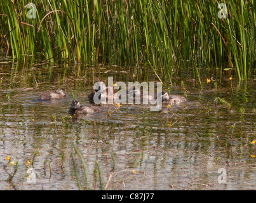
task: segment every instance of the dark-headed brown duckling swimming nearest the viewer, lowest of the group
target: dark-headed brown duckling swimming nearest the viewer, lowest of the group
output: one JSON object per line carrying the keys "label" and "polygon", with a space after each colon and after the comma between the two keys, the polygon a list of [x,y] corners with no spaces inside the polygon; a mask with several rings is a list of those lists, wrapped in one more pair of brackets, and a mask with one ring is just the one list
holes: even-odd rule
{"label": "dark-headed brown duckling swimming nearest the viewer, lowest of the group", "polygon": [[69,108],[69,114],[71,115],[87,115],[87,114],[98,114],[101,110],[99,107],[90,106],[85,107],[81,106],[77,100],[72,100],[71,108]]}

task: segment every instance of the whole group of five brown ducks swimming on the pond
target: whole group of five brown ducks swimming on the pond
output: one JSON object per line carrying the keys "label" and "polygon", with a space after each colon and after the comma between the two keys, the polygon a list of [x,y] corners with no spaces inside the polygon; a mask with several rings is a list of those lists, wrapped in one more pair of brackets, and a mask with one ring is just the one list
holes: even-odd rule
{"label": "whole group of five brown ducks swimming on the pond", "polygon": [[[95,85],[95,88],[91,93],[88,95],[88,100],[90,103],[94,103],[93,98],[95,94],[100,91],[100,94],[98,94],[98,99],[102,100],[104,99],[105,102],[102,102],[101,104],[106,104],[109,97],[108,95],[112,95],[111,97],[114,98],[119,98],[119,94],[114,93],[114,88],[105,86],[104,82],[97,82]],[[110,93],[110,94],[109,94]],[[166,105],[180,105],[181,103],[184,103],[187,101],[187,99],[184,96],[180,95],[168,95],[166,91],[161,91],[159,93],[155,93],[154,96],[149,95],[148,93],[140,91],[139,88],[133,87],[128,89],[126,91],[126,94],[128,95],[128,101],[151,101],[151,100],[156,100],[160,99],[163,104]],[[46,91],[39,95],[40,100],[55,100],[55,99],[60,99],[64,98],[66,95],[65,89],[57,89],[56,91]],[[111,98],[111,99],[112,99]],[[69,108],[69,114],[71,115],[88,115],[88,114],[98,114],[101,112],[100,107],[96,105],[90,105],[90,106],[82,106],[79,101],[77,100],[72,100],[71,102],[71,107]]]}

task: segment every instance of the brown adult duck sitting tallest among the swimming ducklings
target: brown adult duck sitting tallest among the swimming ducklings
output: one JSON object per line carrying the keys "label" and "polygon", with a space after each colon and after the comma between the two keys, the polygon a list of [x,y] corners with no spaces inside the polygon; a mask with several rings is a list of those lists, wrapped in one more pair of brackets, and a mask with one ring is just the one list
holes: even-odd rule
{"label": "brown adult duck sitting tallest among the swimming ducklings", "polygon": [[[113,99],[116,100],[119,98],[119,95],[114,93],[114,88],[105,86],[105,83],[100,81],[95,84],[95,89],[91,91],[91,93],[88,95],[88,100],[90,103],[95,103],[94,102],[94,95],[100,91],[100,95],[98,96],[99,100],[101,101],[101,104],[106,104],[107,101],[109,100],[109,95],[113,95]],[[105,100],[105,101],[104,101]]]}

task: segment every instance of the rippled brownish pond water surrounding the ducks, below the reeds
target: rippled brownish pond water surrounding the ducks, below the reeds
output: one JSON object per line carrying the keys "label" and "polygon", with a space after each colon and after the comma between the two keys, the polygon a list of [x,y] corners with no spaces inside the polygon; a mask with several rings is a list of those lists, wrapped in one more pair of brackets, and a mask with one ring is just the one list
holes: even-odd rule
{"label": "rippled brownish pond water surrounding the ducks, below the reeds", "polygon": [[[255,77],[238,82],[222,75],[201,89],[197,77],[181,75],[163,88],[184,95],[184,81],[188,101],[179,107],[151,112],[147,105],[102,106],[100,114],[70,117],[71,88],[90,105],[94,82],[108,76],[123,82],[157,78],[127,67],[6,61],[0,70],[0,190],[256,189]],[[67,89],[64,99],[37,100],[61,87]]]}

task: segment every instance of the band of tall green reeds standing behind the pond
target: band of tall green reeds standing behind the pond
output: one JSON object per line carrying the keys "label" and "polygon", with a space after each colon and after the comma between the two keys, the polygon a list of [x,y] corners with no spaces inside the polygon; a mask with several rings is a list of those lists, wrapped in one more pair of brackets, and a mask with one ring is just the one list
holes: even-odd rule
{"label": "band of tall green reeds standing behind the pond", "polygon": [[[1,54],[53,62],[129,64],[168,75],[222,65],[255,71],[255,4],[222,1],[0,1]],[[8,49],[9,47],[9,49]],[[43,57],[37,53],[43,53]],[[192,69],[191,69],[192,68]]]}

